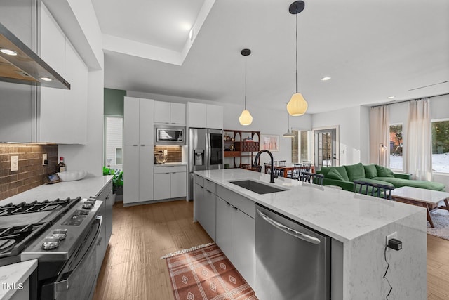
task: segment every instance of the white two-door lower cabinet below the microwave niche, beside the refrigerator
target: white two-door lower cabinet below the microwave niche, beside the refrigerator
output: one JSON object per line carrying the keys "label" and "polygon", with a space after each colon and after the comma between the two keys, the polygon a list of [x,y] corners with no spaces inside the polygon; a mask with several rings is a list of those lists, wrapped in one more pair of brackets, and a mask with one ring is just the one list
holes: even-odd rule
{"label": "white two-door lower cabinet below the microwave niche, beside the refrigerator", "polygon": [[186,196],[186,166],[154,167],[154,200]]}

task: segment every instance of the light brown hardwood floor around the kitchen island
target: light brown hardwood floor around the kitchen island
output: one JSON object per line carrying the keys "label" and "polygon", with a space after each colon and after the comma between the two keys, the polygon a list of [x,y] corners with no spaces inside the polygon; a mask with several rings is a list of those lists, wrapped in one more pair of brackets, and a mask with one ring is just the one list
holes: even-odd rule
{"label": "light brown hardwood floor around the kitchen island", "polygon": [[[193,202],[114,204],[112,236],[94,300],[174,299],[161,256],[212,242],[193,223]],[[449,241],[427,235],[427,298],[449,299]]]}

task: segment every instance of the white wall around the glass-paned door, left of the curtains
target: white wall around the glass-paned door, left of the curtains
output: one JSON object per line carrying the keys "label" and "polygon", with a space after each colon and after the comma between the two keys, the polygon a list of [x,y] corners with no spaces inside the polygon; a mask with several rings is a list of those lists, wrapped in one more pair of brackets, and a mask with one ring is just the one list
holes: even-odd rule
{"label": "white wall around the glass-paned door, left of the curtains", "polygon": [[339,127],[340,165],[368,164],[368,107],[349,107],[333,112],[322,112],[311,117],[313,129]]}

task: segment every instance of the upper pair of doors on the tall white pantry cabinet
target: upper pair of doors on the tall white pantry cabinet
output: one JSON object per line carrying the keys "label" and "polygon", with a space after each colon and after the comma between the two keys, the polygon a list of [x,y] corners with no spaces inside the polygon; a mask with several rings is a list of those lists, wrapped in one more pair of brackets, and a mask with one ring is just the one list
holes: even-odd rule
{"label": "upper pair of doors on the tall white pantry cabinet", "polygon": [[123,144],[154,144],[154,100],[125,97],[123,103]]}

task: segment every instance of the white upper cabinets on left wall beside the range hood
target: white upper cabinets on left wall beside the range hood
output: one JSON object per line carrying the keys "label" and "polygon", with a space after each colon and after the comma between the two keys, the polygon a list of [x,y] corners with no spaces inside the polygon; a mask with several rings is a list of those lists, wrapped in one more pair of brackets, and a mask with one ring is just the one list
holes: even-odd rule
{"label": "white upper cabinets on left wall beside the range hood", "polygon": [[37,141],[85,144],[88,69],[44,4],[39,44],[41,58],[69,81],[71,89],[40,88]]}

